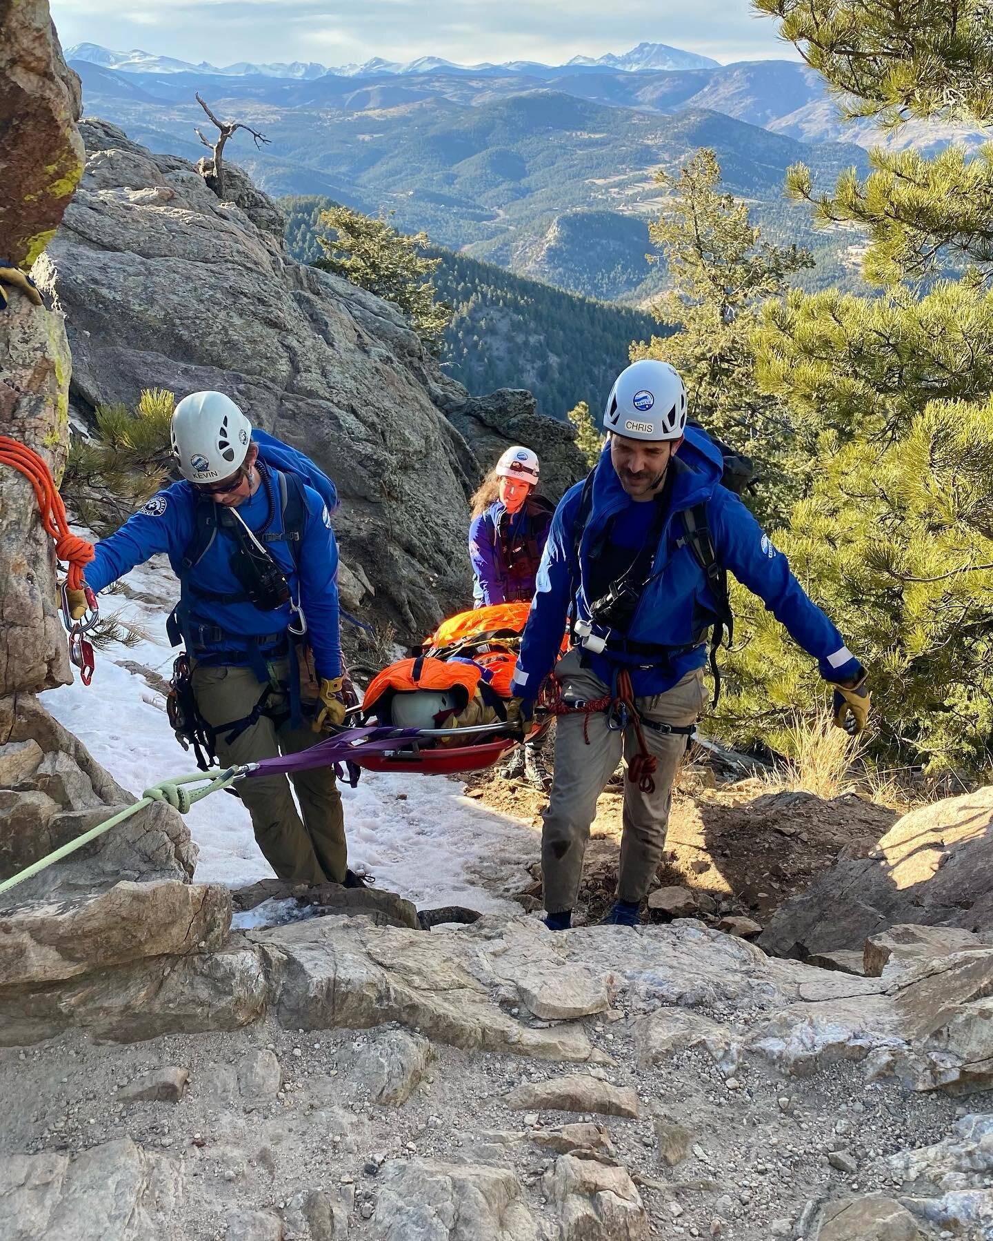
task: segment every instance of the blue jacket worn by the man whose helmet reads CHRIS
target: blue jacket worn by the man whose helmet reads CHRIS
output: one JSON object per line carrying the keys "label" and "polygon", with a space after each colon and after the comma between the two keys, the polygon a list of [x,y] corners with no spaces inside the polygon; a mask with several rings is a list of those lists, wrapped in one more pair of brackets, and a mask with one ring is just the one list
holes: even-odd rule
{"label": "blue jacket worn by the man whose helmet reads CHRIS", "polygon": [[[685,542],[680,516],[703,504],[720,565],[757,594],[794,642],[818,660],[822,676],[828,680],[854,676],[859,663],[838,629],[803,592],[789,572],[786,556],[773,547],[739,496],[720,485],[720,450],[705,433],[688,427],[675,460],[679,468],[672,483],[669,511],[658,536],[652,576],[626,634],[632,643],[664,645],[672,650],[654,660],[647,660],[643,654],[587,653],[591,670],[614,688],[618,668],[627,666],[636,695],[643,697],[672,689],[686,673],[706,663],[706,630],[720,619],[721,609]],[[583,484],[577,483],[555,510],[514,674],[513,691],[521,697],[532,697],[551,671],[570,607],[575,604],[577,619],[590,620],[586,591],[591,550],[611,519],[638,503],[621,486],[608,444],[593,475],[592,506],[578,553],[580,580],[575,582],[575,526],[582,490]],[[593,632],[602,634],[596,627]]]}

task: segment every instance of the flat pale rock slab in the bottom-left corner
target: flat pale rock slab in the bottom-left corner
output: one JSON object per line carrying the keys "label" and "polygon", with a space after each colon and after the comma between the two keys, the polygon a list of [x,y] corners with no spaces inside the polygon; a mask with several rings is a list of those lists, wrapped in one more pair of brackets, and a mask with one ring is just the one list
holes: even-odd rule
{"label": "flat pale rock slab in the bottom-left corner", "polygon": [[171,1241],[181,1164],[130,1138],[76,1154],[45,1152],[0,1160],[0,1219],[11,1241]]}

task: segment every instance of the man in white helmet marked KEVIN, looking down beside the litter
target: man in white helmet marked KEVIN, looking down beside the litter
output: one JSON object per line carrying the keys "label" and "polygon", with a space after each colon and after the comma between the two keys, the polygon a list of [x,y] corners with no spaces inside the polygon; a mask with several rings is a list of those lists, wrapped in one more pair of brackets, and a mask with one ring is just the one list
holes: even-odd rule
{"label": "man in white helmet marked KEVIN, looking down beside the litter", "polygon": [[[319,680],[314,724],[345,716],[334,484],[309,458],[253,429],[221,392],[180,401],[171,442],[182,482],[96,545],[87,585],[102,591],[165,552],[180,580],[170,635],[185,643],[194,710],[199,725],[213,731],[220,761],[304,750],[318,740],[300,701],[299,670],[310,658]],[[82,613],[82,592],[70,592],[70,604]],[[294,643],[304,629],[309,650]],[[302,772],[293,783],[303,822],[284,776],[240,789],[262,853],[281,879],[345,881],[334,773]]]}

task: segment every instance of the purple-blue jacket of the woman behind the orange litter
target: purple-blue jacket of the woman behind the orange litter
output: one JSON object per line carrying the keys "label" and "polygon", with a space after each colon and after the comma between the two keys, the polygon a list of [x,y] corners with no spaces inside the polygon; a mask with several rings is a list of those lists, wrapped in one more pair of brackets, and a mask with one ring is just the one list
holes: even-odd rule
{"label": "purple-blue jacket of the woman behind the orange litter", "polygon": [[551,504],[535,495],[529,495],[514,514],[509,514],[500,500],[494,500],[485,513],[473,517],[469,560],[477,607],[518,603],[534,596],[551,519]]}

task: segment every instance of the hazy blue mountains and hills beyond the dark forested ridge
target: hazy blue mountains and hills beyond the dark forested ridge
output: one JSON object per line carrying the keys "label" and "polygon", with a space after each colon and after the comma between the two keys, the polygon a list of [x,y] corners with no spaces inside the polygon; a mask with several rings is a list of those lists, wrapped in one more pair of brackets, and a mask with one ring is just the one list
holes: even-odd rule
{"label": "hazy blue mountains and hills beyond the dark forested ridge", "polygon": [[[720,159],[726,187],[747,199],[771,241],[819,252],[822,282],[851,280],[847,233],[816,233],[783,202],[786,169],[808,164],[824,189],[849,166],[851,144],[799,143],[772,132],[819,86],[803,66],[628,72],[578,66],[541,81],[501,71],[313,79],[207,71],[120,72],[71,61],[89,113],[155,150],[196,160],[200,91],[216,112],[262,130],[227,148],[274,197],[320,195],[405,232],[587,297],[643,302],[664,271],[649,268],[648,223],[659,168],[679,170],[699,146]],[[739,119],[700,101],[745,113]],[[777,114],[778,107],[778,114]],[[757,122],[757,123],[756,123]]]}

